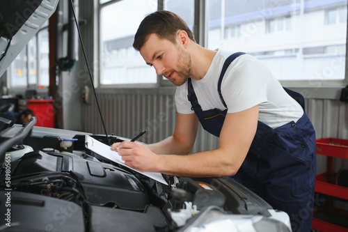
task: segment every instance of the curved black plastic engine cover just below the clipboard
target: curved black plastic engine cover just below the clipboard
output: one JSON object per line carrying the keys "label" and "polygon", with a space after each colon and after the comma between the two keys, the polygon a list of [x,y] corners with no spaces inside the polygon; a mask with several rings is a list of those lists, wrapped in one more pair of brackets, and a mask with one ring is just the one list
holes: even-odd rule
{"label": "curved black plastic engine cover just below the clipboard", "polygon": [[33,151],[11,167],[12,178],[32,173],[73,173],[84,189],[86,200],[92,205],[111,203],[130,210],[144,210],[148,205],[145,188],[131,173],[88,155]]}

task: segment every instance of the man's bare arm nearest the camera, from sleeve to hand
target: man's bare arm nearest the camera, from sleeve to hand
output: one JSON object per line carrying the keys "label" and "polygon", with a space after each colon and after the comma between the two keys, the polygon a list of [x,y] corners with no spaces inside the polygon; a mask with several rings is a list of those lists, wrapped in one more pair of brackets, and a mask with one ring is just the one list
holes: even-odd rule
{"label": "man's bare arm nearest the camera, from sleeve to hand", "polygon": [[[232,176],[244,162],[258,126],[258,105],[227,114],[219,148],[191,155],[157,155],[142,144],[120,144],[125,164],[140,171],[157,171],[173,176]],[[183,130],[183,129],[182,129]],[[184,130],[183,130],[184,131]]]}

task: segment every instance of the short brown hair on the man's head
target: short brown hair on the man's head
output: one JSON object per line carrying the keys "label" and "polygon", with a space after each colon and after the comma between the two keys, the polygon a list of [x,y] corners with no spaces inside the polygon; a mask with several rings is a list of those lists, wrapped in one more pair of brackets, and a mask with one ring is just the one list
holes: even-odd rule
{"label": "short brown hair on the man's head", "polygon": [[175,43],[177,31],[186,31],[189,38],[193,41],[193,33],[179,15],[167,10],[157,10],[146,16],[134,36],[133,47],[139,51],[150,34],[155,33],[159,38],[166,38]]}

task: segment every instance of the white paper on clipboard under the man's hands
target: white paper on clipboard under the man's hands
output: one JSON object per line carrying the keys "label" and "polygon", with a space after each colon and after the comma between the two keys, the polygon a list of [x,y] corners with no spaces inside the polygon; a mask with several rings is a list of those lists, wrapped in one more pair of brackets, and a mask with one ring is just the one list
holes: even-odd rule
{"label": "white paper on clipboard under the man's hands", "polygon": [[[131,167],[129,167],[125,164],[125,162],[122,160],[121,156],[118,155],[118,152],[116,152],[115,150],[111,150],[110,146],[107,146],[106,144],[103,144],[102,142],[97,141],[97,139],[93,139],[92,137],[90,137],[87,134],[86,134],[86,143],[85,144],[86,144],[86,148],[88,148],[88,150],[92,150],[93,152],[97,153],[98,155],[101,155],[102,157],[105,157],[108,160],[111,160],[111,161],[116,162],[118,164],[121,164],[125,167],[128,167],[129,169],[132,169]],[[168,183],[166,183],[166,180],[164,180],[161,173],[142,172],[142,171],[138,171],[136,169],[132,169],[132,170],[139,172],[145,176],[148,176],[154,180],[157,180],[160,183],[168,185]]]}

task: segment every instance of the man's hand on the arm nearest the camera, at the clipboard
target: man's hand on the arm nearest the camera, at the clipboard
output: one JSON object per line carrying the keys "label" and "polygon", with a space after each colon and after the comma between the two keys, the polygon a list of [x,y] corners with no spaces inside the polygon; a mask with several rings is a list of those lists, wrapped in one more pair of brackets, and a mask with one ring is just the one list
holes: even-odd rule
{"label": "man's hand on the arm nearest the camera, at the clipboard", "polygon": [[111,150],[116,150],[129,167],[139,171],[157,171],[156,165],[159,155],[153,153],[143,144],[123,141],[113,144]]}

